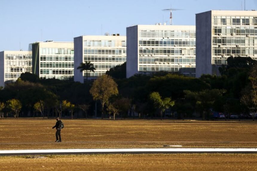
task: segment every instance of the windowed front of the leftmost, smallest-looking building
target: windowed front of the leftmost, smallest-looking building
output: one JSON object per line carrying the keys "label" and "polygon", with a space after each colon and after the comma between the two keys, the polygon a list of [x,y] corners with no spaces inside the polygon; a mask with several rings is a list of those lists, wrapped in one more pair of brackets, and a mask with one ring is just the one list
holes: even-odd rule
{"label": "windowed front of the leftmost, smallest-looking building", "polygon": [[15,82],[22,73],[32,72],[31,53],[4,54],[4,82]]}

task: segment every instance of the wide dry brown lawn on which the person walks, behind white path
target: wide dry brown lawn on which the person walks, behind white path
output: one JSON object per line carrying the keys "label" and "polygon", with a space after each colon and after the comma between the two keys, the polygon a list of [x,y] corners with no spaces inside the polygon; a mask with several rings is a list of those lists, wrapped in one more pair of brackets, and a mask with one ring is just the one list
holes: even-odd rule
{"label": "wide dry brown lawn on which the person walks, behind white path", "polygon": [[173,120],[0,119],[0,150],[44,148],[257,147],[256,122]]}

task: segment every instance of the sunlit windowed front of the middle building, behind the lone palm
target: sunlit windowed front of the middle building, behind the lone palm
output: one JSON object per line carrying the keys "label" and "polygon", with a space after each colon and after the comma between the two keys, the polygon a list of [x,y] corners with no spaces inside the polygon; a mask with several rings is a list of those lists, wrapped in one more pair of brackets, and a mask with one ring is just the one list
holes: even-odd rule
{"label": "sunlit windowed front of the middle building, behind the lone palm", "polygon": [[[121,36],[103,36],[108,40],[83,40],[83,61],[94,64],[95,72],[88,71],[88,77],[99,77],[107,70],[126,62],[126,37],[121,40]],[[86,77],[86,71],[83,76]]]}

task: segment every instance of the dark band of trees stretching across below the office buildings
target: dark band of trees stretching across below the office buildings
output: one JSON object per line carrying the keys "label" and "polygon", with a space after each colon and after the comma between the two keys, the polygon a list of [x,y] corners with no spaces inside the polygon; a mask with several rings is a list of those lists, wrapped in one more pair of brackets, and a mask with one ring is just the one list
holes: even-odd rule
{"label": "dark band of trees stretching across below the office buildings", "polygon": [[[78,69],[94,72],[90,62]],[[179,73],[136,74],[126,78],[126,63],[95,81],[39,79],[31,73],[0,90],[1,117],[101,117],[210,119],[212,111],[249,114],[257,109],[257,65],[250,57],[229,57],[221,76]],[[252,115],[254,118],[254,115]]]}

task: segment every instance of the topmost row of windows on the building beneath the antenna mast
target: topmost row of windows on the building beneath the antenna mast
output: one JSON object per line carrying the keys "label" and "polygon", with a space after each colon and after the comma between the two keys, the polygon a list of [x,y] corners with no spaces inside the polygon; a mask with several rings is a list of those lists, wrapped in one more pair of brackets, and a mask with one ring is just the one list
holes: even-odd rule
{"label": "topmost row of windows on the building beneath the antenna mast", "polygon": [[195,30],[139,30],[138,37],[180,37],[180,38],[195,38]]}

